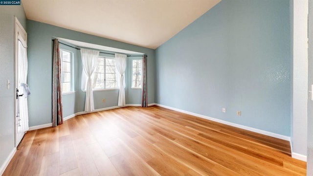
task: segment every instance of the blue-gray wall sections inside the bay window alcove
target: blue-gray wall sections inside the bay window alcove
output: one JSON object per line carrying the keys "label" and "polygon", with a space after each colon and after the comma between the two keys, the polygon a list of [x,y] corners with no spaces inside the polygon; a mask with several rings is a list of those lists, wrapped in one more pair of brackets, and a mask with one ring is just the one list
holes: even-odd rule
{"label": "blue-gray wall sections inside the bay window alcove", "polygon": [[[61,41],[63,42],[63,41]],[[63,42],[68,44],[66,42]],[[73,58],[73,75],[74,75],[74,92],[63,94],[63,115],[64,117],[75,114],[76,112],[82,112],[85,110],[85,98],[86,93],[81,90],[81,74],[83,71],[82,60],[80,55],[80,50],[75,49],[77,47],[73,44],[68,44],[73,47],[67,46],[65,44],[60,44],[60,48],[72,52]],[[92,48],[90,48],[92,49]],[[99,54],[104,57],[114,57],[114,54]],[[129,56],[127,58],[127,67],[125,70],[126,78],[126,88],[125,88],[125,98],[126,104],[141,104],[141,89],[132,89],[132,60],[133,59],[142,59],[138,56]],[[153,80],[152,80],[153,81]],[[93,92],[94,95],[94,106],[95,109],[103,109],[117,106],[118,100],[118,89],[109,89],[109,90],[96,90]],[[154,96],[154,95],[152,95]],[[103,102],[102,99],[106,99],[106,102]]]}

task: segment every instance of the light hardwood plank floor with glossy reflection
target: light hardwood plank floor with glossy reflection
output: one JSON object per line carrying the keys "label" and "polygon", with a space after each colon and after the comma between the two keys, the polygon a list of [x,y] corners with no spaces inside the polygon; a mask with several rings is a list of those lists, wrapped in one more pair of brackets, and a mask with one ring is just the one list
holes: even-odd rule
{"label": "light hardwood plank floor with glossy reflection", "polygon": [[27,132],[3,176],[305,176],[288,141],[160,107]]}

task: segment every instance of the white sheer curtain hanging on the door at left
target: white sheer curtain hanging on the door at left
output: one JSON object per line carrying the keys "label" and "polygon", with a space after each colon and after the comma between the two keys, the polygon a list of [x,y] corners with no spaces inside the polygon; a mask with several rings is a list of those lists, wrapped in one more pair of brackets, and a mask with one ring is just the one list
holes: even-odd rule
{"label": "white sheer curtain hanging on the door at left", "polygon": [[18,45],[18,85],[19,85],[19,94],[23,94],[23,96],[19,97],[19,110],[18,115],[20,115],[20,127],[18,128],[18,132],[26,132],[29,130],[28,126],[28,105],[27,105],[27,95],[30,94],[27,85],[27,45],[25,41],[19,37],[19,45]]}

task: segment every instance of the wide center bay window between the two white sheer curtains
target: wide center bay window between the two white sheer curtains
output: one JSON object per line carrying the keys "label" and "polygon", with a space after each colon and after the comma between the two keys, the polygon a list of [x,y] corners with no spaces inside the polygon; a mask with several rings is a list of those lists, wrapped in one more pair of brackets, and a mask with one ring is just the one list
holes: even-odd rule
{"label": "wide center bay window between the two white sheer curtains", "polygon": [[115,59],[99,57],[93,77],[93,88],[117,88]]}

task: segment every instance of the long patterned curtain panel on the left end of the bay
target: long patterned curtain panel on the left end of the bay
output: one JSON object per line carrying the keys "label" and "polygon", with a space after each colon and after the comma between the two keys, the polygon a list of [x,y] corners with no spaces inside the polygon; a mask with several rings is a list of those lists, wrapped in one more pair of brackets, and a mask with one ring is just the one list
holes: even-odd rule
{"label": "long patterned curtain panel on the left end of the bay", "polygon": [[58,39],[54,39],[52,73],[52,126],[63,124],[61,57]]}

